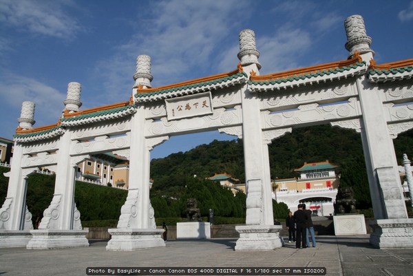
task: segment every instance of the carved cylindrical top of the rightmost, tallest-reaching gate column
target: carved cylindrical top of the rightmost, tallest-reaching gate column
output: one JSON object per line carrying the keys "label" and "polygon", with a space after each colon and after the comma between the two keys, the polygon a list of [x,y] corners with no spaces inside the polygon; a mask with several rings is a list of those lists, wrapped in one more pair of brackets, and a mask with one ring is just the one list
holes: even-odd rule
{"label": "carved cylindrical top of the rightmost, tallest-reaching gate column", "polygon": [[374,51],[370,49],[372,39],[370,36],[367,36],[363,17],[357,14],[348,17],[344,21],[344,27],[347,34],[345,47],[350,52],[348,59],[352,59],[354,52],[357,51],[363,57],[363,61],[370,63],[370,59],[374,56]]}

